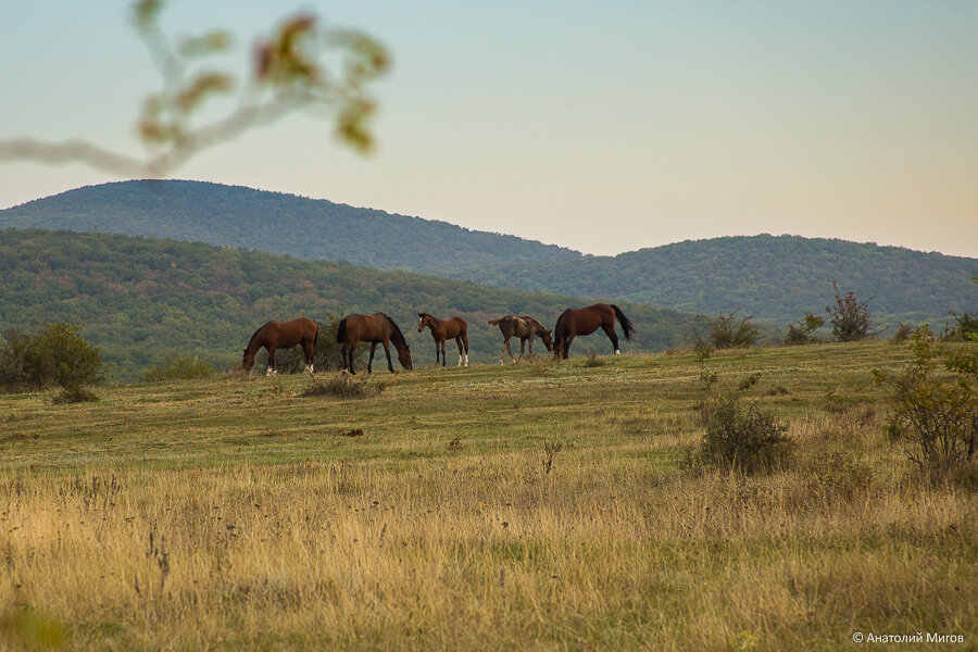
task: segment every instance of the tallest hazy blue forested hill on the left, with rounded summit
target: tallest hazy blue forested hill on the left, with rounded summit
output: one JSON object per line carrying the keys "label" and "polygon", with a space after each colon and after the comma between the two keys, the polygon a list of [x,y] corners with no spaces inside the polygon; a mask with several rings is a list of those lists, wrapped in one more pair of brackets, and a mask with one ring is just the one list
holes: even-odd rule
{"label": "tallest hazy blue forested hill on the left, with rounded summit", "polygon": [[569,249],[444,222],[203,181],[122,181],[0,211],[0,228],[173,238],[386,269],[580,258]]}

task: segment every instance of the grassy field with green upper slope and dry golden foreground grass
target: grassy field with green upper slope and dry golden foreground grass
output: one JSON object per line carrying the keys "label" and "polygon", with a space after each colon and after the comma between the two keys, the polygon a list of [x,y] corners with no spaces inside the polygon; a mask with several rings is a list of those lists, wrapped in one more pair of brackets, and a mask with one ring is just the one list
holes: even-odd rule
{"label": "grassy field with green upper slope and dry golden foreground grass", "polygon": [[715,353],[799,444],[755,476],[687,461],[691,354],[4,396],[0,648],[975,649],[978,494],[915,481],[869,376],[908,358]]}

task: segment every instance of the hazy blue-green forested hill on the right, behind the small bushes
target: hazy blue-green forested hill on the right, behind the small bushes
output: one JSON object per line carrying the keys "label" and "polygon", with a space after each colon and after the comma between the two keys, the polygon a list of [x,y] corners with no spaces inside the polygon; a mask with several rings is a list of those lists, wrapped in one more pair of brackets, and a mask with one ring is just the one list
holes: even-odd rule
{"label": "hazy blue-green forested hill on the right, behind the small bushes", "polygon": [[616,256],[546,265],[471,267],[460,278],[527,290],[602,296],[716,314],[743,309],[755,318],[824,314],[831,280],[894,323],[942,321],[978,309],[978,259],[798,236],[726,237],[667,244]]}

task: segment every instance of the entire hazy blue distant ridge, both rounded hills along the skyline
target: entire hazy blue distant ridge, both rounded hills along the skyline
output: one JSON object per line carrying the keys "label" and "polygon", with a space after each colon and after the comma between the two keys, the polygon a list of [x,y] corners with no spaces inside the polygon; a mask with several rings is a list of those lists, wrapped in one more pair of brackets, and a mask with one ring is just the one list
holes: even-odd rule
{"label": "entire hazy blue distant ridge, both rounded hills along the skyline", "polygon": [[978,259],[800,236],[687,240],[616,256],[443,222],[202,181],[78,188],[0,211],[0,228],[71,229],[342,260],[517,290],[788,322],[824,314],[831,280],[889,325],[978,311]]}

